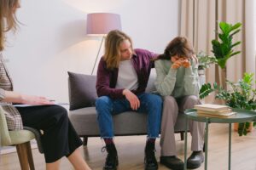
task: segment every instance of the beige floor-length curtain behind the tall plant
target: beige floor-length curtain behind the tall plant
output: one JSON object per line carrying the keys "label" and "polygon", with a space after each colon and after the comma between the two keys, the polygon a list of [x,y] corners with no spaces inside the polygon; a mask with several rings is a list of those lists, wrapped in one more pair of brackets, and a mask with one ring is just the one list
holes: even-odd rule
{"label": "beige floor-length curtain behind the tall plant", "polygon": [[[241,54],[233,56],[226,65],[230,81],[237,81],[244,72],[252,72],[255,76],[253,3],[253,0],[181,0],[180,35],[193,42],[197,53],[203,50],[212,54],[211,41],[216,38],[220,21],[241,22],[241,31],[234,37],[234,42],[241,41],[235,49],[241,50]],[[206,73],[207,82],[216,82],[218,74],[218,66],[212,65]]]}

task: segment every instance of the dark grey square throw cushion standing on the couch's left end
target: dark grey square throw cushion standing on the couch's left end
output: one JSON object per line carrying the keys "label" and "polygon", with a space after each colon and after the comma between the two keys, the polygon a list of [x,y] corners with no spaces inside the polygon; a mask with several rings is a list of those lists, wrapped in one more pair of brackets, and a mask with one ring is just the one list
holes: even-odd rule
{"label": "dark grey square throw cushion standing on the couch's left end", "polygon": [[70,111],[95,105],[96,76],[68,73]]}

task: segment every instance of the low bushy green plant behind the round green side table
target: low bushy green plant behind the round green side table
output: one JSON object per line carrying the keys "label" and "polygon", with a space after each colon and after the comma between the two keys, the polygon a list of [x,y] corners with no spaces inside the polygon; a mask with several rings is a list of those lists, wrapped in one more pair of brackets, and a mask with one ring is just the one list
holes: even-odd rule
{"label": "low bushy green plant behind the round green side table", "polygon": [[[215,92],[216,99],[223,99],[226,105],[231,108],[244,109],[249,111],[256,110],[256,89],[253,88],[253,73],[245,73],[238,82],[226,81],[230,89],[219,86],[216,82],[204,84],[200,90],[200,98]],[[250,122],[239,123],[239,135],[246,135],[250,127]]]}

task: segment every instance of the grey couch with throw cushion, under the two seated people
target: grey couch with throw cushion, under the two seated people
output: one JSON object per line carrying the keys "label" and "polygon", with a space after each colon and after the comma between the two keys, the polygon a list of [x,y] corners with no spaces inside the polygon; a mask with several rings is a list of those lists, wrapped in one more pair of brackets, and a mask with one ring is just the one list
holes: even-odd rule
{"label": "grey couch with throw cushion, under the two seated people", "polygon": [[[69,117],[79,136],[84,138],[84,145],[87,145],[88,137],[100,136],[94,105],[96,100],[96,76],[73,72],[68,72],[68,75]],[[156,74],[153,69],[146,92],[155,91],[155,77]],[[147,134],[147,114],[127,111],[113,116],[113,125],[116,136]],[[175,125],[175,132],[181,133],[182,140],[184,127],[184,116],[179,114]]]}

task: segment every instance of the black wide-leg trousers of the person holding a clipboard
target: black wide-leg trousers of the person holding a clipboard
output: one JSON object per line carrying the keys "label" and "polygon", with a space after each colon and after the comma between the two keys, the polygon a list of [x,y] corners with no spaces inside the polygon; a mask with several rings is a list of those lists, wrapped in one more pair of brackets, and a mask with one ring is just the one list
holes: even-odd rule
{"label": "black wide-leg trousers of the person holding a clipboard", "polygon": [[70,156],[82,145],[68,119],[67,110],[60,105],[16,107],[24,126],[33,127],[42,133],[41,142],[46,163]]}

